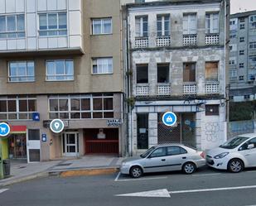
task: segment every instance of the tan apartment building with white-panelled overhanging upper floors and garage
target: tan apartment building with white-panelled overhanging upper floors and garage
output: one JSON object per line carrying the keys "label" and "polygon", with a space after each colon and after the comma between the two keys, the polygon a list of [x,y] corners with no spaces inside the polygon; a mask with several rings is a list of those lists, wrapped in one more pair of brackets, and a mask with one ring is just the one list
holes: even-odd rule
{"label": "tan apartment building with white-panelled overhanging upper floors and garage", "polygon": [[[28,161],[122,154],[119,0],[0,1],[5,156]],[[61,134],[49,123],[60,118]]]}

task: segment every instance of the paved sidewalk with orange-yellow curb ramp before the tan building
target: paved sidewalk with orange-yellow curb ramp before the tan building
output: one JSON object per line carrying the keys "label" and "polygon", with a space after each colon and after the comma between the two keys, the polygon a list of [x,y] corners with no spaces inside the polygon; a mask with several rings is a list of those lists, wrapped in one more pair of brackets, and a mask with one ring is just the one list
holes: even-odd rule
{"label": "paved sidewalk with orange-yellow curb ramp before the tan building", "polygon": [[99,175],[118,170],[123,158],[115,156],[82,156],[73,160],[51,160],[27,164],[11,161],[11,176],[0,180],[0,187],[48,175]]}

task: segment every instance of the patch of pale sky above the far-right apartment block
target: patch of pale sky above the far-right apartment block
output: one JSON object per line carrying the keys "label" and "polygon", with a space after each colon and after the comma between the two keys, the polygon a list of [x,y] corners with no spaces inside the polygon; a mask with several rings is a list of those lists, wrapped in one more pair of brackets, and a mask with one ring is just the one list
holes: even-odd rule
{"label": "patch of pale sky above the far-right apartment block", "polygon": [[230,13],[249,12],[256,10],[256,0],[230,0]]}

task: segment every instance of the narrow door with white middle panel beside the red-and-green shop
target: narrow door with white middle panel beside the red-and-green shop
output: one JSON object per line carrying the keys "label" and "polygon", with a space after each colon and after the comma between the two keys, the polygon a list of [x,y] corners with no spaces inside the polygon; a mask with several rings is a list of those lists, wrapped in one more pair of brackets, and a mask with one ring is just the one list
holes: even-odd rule
{"label": "narrow door with white middle panel beside the red-and-green shop", "polygon": [[27,162],[41,161],[40,130],[29,129],[27,132]]}

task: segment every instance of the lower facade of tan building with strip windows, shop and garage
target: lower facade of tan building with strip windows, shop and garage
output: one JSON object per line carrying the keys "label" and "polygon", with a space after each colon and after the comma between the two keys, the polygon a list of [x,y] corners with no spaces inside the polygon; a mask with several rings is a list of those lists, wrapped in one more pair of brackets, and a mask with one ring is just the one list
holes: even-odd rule
{"label": "lower facade of tan building with strip windows, shop and garage", "polygon": [[[122,101],[121,93],[0,97],[1,122],[11,127],[1,138],[2,155],[28,162],[122,156]],[[55,118],[64,122],[63,132],[51,132]]]}

